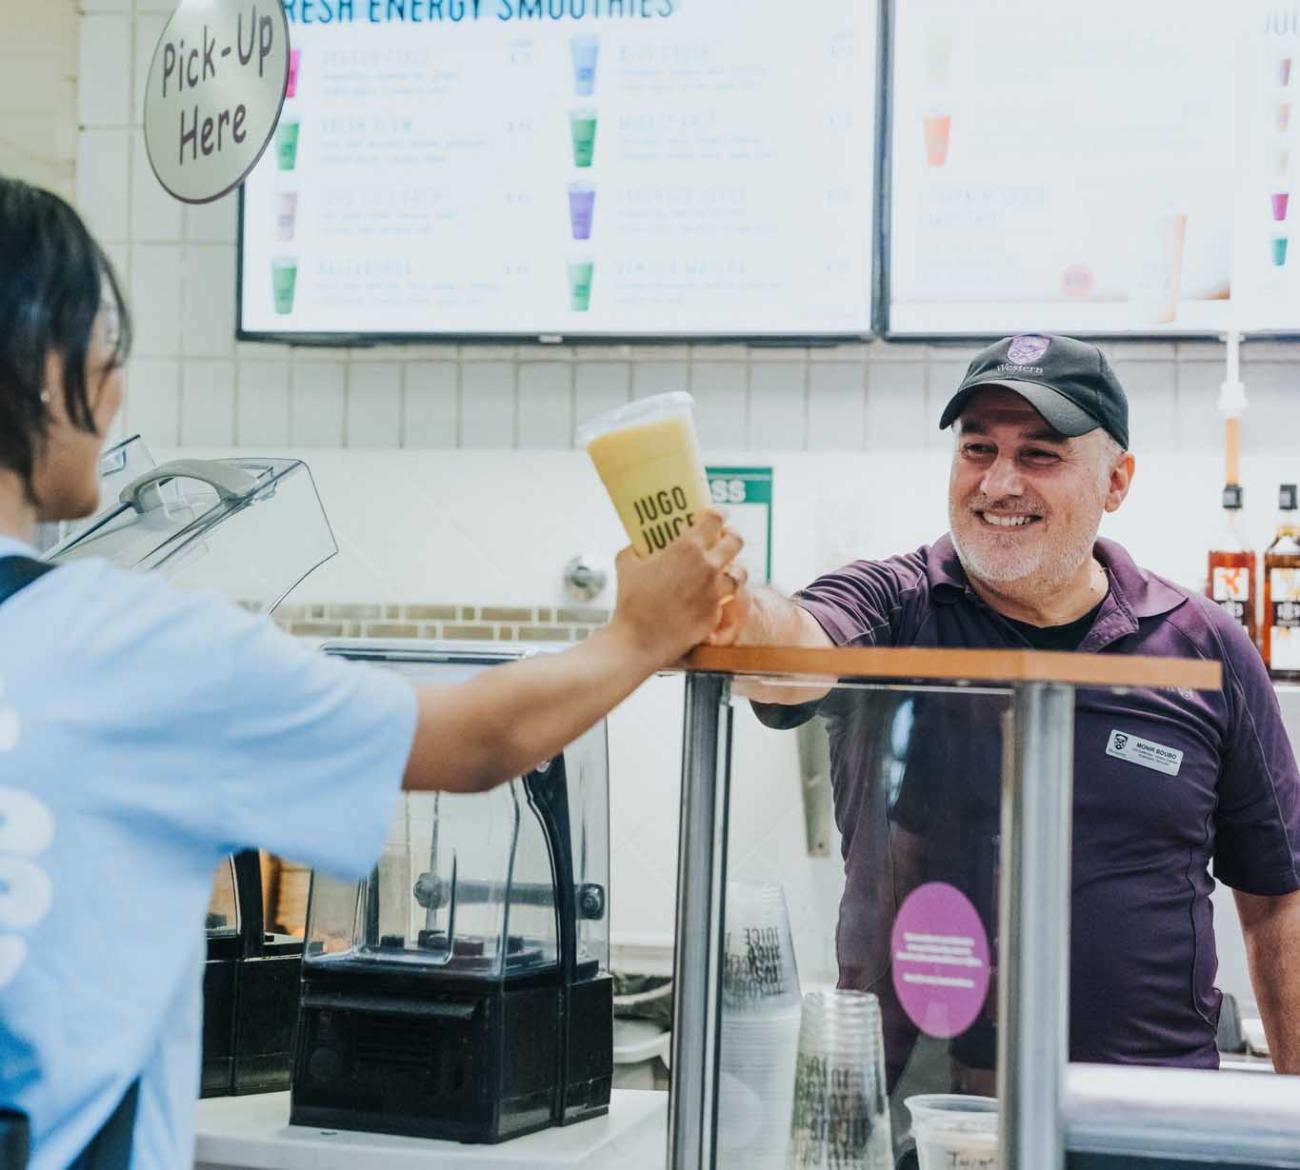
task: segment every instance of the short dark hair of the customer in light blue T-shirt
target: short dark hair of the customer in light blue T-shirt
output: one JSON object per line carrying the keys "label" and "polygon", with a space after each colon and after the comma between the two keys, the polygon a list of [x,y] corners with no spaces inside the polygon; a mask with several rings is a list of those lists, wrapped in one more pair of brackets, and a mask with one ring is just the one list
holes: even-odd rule
{"label": "short dark hair of the customer in light blue T-shirt", "polygon": [[105,302],[120,322],[112,370],[130,350],[113,265],[62,199],[0,176],[0,467],[17,472],[34,502],[32,473],[49,425],[43,394],[57,389],[46,386],[46,359],[62,359],[68,417],[94,432],[86,354]]}

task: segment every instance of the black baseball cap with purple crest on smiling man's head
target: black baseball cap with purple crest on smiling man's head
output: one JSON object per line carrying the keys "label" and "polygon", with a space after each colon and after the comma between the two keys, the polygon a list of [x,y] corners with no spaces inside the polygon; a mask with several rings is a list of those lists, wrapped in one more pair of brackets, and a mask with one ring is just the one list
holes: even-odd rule
{"label": "black baseball cap with purple crest on smiling man's head", "polygon": [[1128,450],[1128,398],[1105,355],[1072,337],[1023,333],[980,350],[944,407],[940,429],[952,426],[971,395],[1005,386],[1065,436],[1098,426]]}

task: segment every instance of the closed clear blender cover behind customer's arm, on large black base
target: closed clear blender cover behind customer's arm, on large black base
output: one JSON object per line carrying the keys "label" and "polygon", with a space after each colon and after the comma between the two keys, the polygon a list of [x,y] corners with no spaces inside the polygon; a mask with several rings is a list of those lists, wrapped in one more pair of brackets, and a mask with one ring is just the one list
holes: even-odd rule
{"label": "closed clear blender cover behind customer's arm, on large black base", "polygon": [[[521,650],[333,644],[421,684],[464,681]],[[562,890],[568,889],[568,893]],[[360,883],[316,874],[306,962],[503,979],[608,963],[604,728],[526,777],[474,794],[407,793]],[[567,898],[567,904],[564,900]],[[568,944],[564,945],[566,932]]]}

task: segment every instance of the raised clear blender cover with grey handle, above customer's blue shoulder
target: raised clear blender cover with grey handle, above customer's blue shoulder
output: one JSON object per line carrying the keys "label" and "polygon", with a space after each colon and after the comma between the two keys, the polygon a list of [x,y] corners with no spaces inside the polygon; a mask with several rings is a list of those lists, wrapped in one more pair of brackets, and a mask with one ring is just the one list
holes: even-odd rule
{"label": "raised clear blender cover with grey handle, above customer's blue shoulder", "polygon": [[124,484],[117,504],[49,554],[103,556],[181,589],[218,589],[270,612],[338,551],[307,464],[176,460]]}

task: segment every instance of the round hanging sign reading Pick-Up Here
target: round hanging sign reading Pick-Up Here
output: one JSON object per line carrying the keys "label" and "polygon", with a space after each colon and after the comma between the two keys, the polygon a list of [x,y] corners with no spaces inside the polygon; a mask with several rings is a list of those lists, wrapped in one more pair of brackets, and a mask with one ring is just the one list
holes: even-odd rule
{"label": "round hanging sign reading Pick-Up Here", "polygon": [[238,186],[276,131],[287,81],[278,0],[181,0],[144,95],[144,146],[159,182],[186,203]]}

